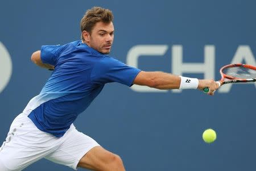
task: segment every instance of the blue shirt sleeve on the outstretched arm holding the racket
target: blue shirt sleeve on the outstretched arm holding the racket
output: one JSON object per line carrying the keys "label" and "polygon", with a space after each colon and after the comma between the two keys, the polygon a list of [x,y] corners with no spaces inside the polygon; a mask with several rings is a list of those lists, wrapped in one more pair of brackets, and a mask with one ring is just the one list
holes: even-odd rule
{"label": "blue shirt sleeve on the outstretched arm holding the racket", "polygon": [[94,64],[91,81],[94,84],[119,82],[127,86],[132,86],[139,72],[141,72],[140,69],[123,64],[123,62],[112,57],[104,57]]}

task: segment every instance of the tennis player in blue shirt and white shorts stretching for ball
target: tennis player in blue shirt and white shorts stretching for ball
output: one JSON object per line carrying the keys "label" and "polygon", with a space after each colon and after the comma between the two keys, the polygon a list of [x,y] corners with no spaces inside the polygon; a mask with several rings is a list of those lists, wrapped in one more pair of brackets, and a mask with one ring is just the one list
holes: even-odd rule
{"label": "tennis player in blue shirt and white shorts stretching for ball", "polygon": [[42,158],[91,170],[125,170],[119,156],[77,131],[74,120],[108,82],[156,89],[218,88],[213,80],[197,80],[163,72],[144,72],[108,56],[114,40],[112,11],[93,7],[81,19],[81,39],[45,45],[32,54],[36,65],[53,70],[39,95],[13,121],[0,148],[0,170],[22,170]]}

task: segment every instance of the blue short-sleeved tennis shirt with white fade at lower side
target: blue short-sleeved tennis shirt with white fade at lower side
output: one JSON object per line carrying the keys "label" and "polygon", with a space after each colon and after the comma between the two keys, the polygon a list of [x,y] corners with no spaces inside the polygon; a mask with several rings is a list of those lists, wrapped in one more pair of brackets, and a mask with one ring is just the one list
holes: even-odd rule
{"label": "blue short-sleeved tennis shirt with white fade at lower side", "polygon": [[133,85],[141,71],[104,55],[81,40],[43,45],[41,60],[55,66],[39,95],[24,113],[39,130],[61,137],[108,82]]}

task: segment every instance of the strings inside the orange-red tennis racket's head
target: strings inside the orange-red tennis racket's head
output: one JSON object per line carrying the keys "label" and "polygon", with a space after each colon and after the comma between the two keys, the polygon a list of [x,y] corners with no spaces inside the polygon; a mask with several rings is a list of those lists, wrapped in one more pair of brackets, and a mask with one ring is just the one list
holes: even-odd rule
{"label": "strings inside the orange-red tennis racket's head", "polygon": [[245,68],[242,66],[224,68],[222,70],[222,73],[226,74],[226,76],[232,76],[241,79],[256,78],[256,70]]}

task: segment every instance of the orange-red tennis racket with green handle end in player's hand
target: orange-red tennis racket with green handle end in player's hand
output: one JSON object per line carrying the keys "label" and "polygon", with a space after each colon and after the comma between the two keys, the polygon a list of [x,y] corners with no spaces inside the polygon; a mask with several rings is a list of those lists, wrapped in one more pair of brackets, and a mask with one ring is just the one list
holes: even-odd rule
{"label": "orange-red tennis racket with green handle end in player's hand", "polygon": [[[221,80],[217,81],[220,86],[229,83],[255,82],[256,66],[247,64],[229,64],[220,69]],[[208,93],[209,87],[205,87],[205,93]]]}

